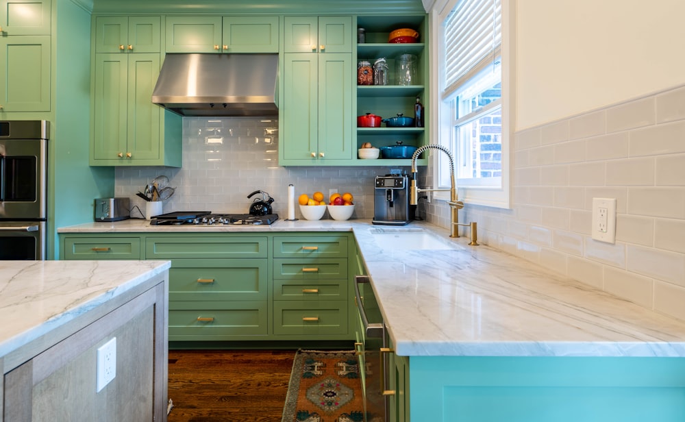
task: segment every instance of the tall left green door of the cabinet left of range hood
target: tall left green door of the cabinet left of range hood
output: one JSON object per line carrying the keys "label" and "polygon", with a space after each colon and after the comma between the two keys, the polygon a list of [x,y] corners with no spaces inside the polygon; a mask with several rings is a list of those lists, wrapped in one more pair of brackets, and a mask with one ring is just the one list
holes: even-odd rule
{"label": "tall left green door of the cabinet left of range hood", "polygon": [[[111,162],[126,151],[128,56],[95,55],[92,159]],[[91,163],[93,164],[93,163]]]}

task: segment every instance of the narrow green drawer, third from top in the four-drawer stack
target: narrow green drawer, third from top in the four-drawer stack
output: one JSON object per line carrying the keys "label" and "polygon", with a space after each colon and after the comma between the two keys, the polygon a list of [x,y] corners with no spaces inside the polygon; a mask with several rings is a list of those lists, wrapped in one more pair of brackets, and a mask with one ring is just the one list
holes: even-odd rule
{"label": "narrow green drawer, third from top in the four-drawer stack", "polygon": [[347,300],[347,280],[273,280],[274,300]]}

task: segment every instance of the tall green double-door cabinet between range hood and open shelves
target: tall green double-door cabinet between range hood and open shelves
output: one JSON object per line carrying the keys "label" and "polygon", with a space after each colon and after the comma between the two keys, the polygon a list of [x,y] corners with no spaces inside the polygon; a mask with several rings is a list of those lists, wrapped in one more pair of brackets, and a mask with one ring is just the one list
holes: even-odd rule
{"label": "tall green double-door cabinet between range hood and open shelves", "polygon": [[353,158],[352,56],[284,54],[279,164],[344,164]]}

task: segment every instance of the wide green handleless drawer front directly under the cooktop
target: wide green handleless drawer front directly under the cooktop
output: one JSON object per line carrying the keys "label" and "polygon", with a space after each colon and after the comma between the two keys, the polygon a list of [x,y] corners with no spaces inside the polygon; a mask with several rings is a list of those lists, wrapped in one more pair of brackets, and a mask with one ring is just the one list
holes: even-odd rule
{"label": "wide green handleless drawer front directly under the cooktop", "polygon": [[145,258],[266,258],[266,237],[149,237]]}

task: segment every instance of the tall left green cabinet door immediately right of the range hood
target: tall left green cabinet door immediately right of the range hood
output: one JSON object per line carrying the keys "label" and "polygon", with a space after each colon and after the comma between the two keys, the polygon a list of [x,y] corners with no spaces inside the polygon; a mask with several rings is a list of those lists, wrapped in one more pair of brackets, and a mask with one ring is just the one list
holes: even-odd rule
{"label": "tall left green cabinet door immediately right of the range hood", "polygon": [[318,73],[318,55],[284,54],[283,132],[279,142],[282,160],[316,162],[319,149]]}

